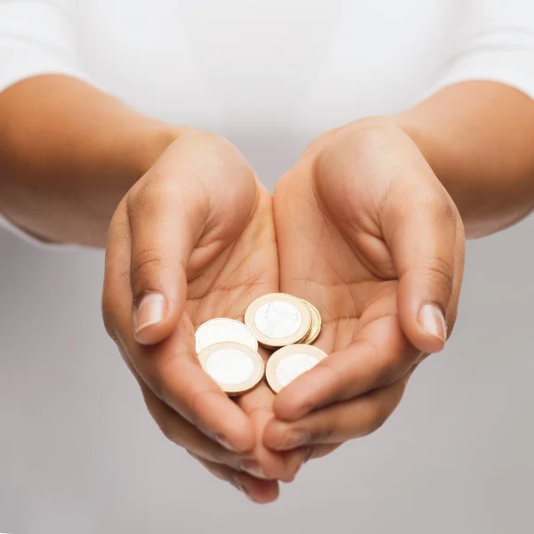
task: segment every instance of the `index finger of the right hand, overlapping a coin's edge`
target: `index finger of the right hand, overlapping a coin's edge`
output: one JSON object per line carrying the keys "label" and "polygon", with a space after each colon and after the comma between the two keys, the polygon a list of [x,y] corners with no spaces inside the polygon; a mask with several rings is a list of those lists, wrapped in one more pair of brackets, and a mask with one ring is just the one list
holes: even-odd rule
{"label": "index finger of the right hand, overlapping a coin's edge", "polygon": [[392,384],[420,357],[421,352],[404,336],[396,314],[372,320],[354,344],[332,353],[279,392],[274,413],[279,419],[295,421],[333,402]]}

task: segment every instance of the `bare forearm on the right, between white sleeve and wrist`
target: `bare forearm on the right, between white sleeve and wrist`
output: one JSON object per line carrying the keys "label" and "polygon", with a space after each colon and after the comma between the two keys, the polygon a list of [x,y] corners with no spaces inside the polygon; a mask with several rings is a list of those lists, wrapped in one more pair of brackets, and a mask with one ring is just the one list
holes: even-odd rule
{"label": "bare forearm on the right, between white sleeve and wrist", "polygon": [[395,117],[456,202],[468,237],[534,207],[534,101],[506,85],[465,82]]}

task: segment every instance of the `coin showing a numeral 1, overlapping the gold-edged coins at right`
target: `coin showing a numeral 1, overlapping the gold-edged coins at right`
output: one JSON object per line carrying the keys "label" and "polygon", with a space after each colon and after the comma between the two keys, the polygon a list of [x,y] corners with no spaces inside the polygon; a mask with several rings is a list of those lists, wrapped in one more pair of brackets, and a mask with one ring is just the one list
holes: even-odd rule
{"label": "coin showing a numeral 1, overlapping the gold-edged coins at right", "polygon": [[299,298],[271,293],[256,298],[245,312],[245,324],[268,348],[294,344],[307,335],[312,313]]}

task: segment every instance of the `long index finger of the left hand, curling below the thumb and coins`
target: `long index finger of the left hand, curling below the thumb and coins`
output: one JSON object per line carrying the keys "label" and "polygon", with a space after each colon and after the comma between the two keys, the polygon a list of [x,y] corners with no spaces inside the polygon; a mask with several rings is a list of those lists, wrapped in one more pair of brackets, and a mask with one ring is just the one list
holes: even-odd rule
{"label": "long index finger of the left hand, curling below the thumb and coins", "polygon": [[255,433],[242,409],[200,367],[194,350],[194,329],[186,316],[164,342],[143,346],[131,328],[127,247],[124,213],[110,227],[102,310],[109,335],[122,347],[123,357],[143,383],[161,401],[226,447],[246,452],[255,447]]}

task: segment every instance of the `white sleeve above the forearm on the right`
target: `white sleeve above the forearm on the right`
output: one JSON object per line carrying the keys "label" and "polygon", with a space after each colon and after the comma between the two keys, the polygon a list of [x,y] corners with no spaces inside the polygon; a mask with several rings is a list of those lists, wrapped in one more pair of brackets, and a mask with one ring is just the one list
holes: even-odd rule
{"label": "white sleeve above the forearm on the right", "polygon": [[534,98],[534,0],[467,0],[457,29],[457,53],[431,93],[490,80]]}

